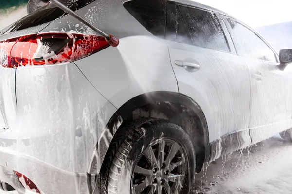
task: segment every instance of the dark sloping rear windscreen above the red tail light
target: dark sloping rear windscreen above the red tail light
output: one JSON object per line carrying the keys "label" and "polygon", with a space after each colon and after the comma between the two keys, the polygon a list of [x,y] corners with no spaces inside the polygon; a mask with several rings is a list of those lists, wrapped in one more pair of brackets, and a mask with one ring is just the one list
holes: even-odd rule
{"label": "dark sloping rear windscreen above the red tail light", "polygon": [[[63,0],[63,3],[71,10],[77,11],[78,9],[81,9],[93,1],[95,0]],[[55,5],[50,3],[4,28],[0,31],[0,34],[16,32],[26,28],[45,24],[66,15],[67,13],[65,13],[63,10],[55,7]]]}

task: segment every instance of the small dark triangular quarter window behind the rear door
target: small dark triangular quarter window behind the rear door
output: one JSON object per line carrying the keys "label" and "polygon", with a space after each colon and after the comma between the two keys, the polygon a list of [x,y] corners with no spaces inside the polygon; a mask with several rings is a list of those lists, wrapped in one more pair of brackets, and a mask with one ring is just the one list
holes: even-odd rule
{"label": "small dark triangular quarter window behind the rear door", "polygon": [[127,11],[150,33],[163,36],[166,23],[165,0],[132,0],[124,3]]}

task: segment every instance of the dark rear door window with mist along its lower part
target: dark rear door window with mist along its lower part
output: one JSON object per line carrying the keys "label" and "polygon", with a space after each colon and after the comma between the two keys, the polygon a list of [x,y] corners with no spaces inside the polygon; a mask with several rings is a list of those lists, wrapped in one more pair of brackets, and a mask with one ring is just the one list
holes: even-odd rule
{"label": "dark rear door window with mist along its lower part", "polygon": [[230,52],[218,18],[210,12],[199,9],[177,7],[177,41]]}

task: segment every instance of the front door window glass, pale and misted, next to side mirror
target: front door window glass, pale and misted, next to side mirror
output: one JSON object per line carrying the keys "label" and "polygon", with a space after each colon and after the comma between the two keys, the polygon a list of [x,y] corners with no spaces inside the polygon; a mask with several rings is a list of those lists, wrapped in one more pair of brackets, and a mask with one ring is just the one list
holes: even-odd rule
{"label": "front door window glass, pale and misted, next to side mirror", "polygon": [[273,50],[253,31],[231,18],[227,18],[227,22],[231,26],[230,34],[239,55],[277,62]]}

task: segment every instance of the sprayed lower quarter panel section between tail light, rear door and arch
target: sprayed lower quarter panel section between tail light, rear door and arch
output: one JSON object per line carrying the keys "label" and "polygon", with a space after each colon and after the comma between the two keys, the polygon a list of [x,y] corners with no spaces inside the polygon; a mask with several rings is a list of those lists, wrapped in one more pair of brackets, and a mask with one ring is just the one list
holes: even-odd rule
{"label": "sprayed lower quarter panel section between tail light, rear door and arch", "polygon": [[[135,50],[135,47],[142,47],[142,52],[133,53],[129,49]],[[110,57],[112,54],[115,57]],[[119,49],[105,49],[75,63],[97,90],[117,108],[147,92],[178,92],[167,46],[164,40],[158,38],[122,38]]]}

